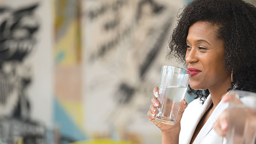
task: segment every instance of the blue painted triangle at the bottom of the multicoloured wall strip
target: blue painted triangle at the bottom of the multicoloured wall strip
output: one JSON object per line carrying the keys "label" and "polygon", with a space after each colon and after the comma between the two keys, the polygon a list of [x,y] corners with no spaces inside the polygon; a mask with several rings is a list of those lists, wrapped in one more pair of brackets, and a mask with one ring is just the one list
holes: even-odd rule
{"label": "blue painted triangle at the bottom of the multicoloured wall strip", "polygon": [[72,121],[72,119],[65,112],[63,107],[60,105],[59,101],[54,98],[54,124],[59,126],[59,131],[61,136],[64,136],[71,140],[86,140],[87,138],[79,130],[77,125]]}

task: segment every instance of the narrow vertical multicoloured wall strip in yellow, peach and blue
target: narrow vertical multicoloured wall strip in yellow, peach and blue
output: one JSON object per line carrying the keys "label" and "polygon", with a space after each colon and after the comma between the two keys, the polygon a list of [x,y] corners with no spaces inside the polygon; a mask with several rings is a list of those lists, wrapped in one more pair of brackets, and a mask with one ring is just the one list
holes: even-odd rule
{"label": "narrow vertical multicoloured wall strip in yellow, peach and blue", "polygon": [[84,140],[80,1],[54,0],[54,124],[60,143]]}

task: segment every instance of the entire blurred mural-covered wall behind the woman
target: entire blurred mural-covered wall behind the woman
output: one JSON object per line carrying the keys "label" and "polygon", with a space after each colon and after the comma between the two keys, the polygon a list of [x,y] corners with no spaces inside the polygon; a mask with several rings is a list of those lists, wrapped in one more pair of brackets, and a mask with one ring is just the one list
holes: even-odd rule
{"label": "entire blurred mural-covered wall behind the woman", "polygon": [[0,138],[161,143],[147,112],[188,2],[0,0]]}

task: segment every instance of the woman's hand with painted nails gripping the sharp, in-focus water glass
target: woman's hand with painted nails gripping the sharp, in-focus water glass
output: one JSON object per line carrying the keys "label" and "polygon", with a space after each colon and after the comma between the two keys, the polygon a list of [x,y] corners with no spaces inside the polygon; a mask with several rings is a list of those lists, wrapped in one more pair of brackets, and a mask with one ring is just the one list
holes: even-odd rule
{"label": "woman's hand with painted nails gripping the sharp, in-focus water glass", "polygon": [[[158,87],[155,87],[154,90],[154,95],[156,97],[158,97]],[[168,125],[168,124],[162,124],[162,123],[158,123],[156,122],[156,113],[157,113],[157,109],[156,108],[161,108],[161,104],[160,102],[156,99],[156,97],[151,99],[152,105],[150,105],[149,110],[148,110],[148,119],[153,122],[161,131],[162,133],[177,133],[177,135],[179,136],[180,133],[180,119],[182,117],[182,114],[185,110],[185,108],[187,108],[188,103],[183,99],[180,102],[180,110],[176,119],[176,122],[174,125]]]}

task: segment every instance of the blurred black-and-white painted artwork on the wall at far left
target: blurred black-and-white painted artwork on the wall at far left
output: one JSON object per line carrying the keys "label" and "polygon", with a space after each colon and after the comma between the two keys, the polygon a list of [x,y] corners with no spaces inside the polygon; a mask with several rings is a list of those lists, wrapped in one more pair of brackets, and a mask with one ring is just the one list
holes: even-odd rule
{"label": "blurred black-and-white painted artwork on the wall at far left", "polygon": [[39,6],[0,6],[0,136],[21,136],[25,144],[46,139],[45,126],[30,118],[27,94],[33,79],[26,58],[36,51]]}

